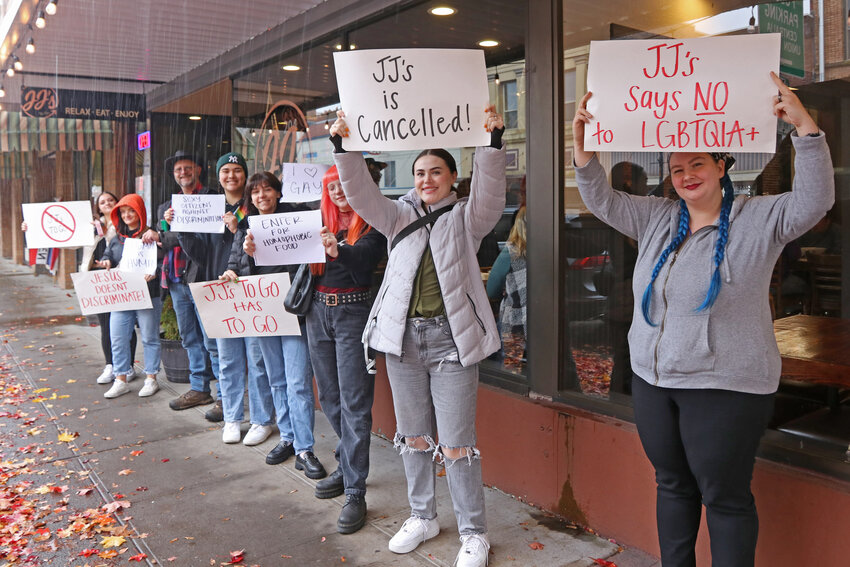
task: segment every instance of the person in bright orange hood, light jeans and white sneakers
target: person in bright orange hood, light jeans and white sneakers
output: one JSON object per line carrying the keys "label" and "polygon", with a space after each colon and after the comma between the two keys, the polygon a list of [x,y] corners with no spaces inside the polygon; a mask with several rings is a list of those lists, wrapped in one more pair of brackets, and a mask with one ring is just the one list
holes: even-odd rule
{"label": "person in bright orange hood, light jeans and white sneakers", "polygon": [[[125,195],[115,205],[111,212],[112,225],[116,236],[112,239],[97,262],[99,268],[115,268],[121,262],[124,254],[124,241],[127,238],[140,238],[148,229],[145,202],[140,195],[132,193]],[[129,374],[133,368],[130,357],[130,335],[136,324],[142,334],[142,346],[145,351],[145,383],[139,390],[140,397],[154,395],[159,390],[156,375],[160,364],[159,316],[162,312],[162,299],[159,296],[157,273],[146,274],[148,292],[151,296],[150,309],[135,309],[131,311],[116,311],[110,316],[109,332],[112,342],[112,360],[115,380],[104,394],[104,398],[117,398],[130,391],[127,385]]]}

